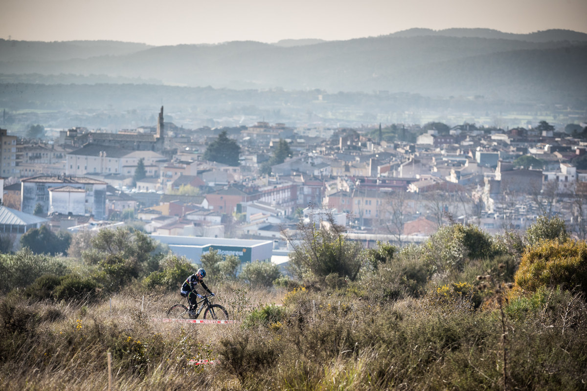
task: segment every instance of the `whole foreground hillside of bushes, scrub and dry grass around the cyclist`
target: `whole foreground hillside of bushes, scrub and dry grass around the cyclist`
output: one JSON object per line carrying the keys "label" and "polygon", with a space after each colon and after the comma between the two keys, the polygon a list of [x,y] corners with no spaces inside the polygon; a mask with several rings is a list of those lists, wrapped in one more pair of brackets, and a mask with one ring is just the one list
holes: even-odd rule
{"label": "whole foreground hillside of bushes, scrub and dry grass around the cyclist", "polygon": [[[587,382],[587,245],[561,220],[527,234],[442,227],[362,250],[299,225],[292,277],[212,252],[207,284],[236,322],[167,324],[193,267],[132,230],[68,253],[0,256],[0,387],[576,390]],[[528,241],[531,237],[531,242]],[[190,359],[213,363],[189,365]]]}

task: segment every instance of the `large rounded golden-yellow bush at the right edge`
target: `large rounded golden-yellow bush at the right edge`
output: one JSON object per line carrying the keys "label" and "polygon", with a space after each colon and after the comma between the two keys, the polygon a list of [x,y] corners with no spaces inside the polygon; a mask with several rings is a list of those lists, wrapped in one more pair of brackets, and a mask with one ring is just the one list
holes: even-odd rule
{"label": "large rounded golden-yellow bush at the right edge", "polygon": [[587,293],[587,243],[585,241],[541,240],[529,246],[522,256],[515,283],[535,292],[557,285]]}

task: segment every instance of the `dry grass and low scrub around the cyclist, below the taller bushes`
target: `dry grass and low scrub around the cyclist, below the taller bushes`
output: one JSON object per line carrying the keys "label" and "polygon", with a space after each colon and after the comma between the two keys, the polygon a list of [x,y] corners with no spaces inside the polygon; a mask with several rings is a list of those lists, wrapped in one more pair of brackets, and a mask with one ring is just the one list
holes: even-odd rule
{"label": "dry grass and low scrub around the cyclist, below the taller bushes", "polygon": [[[430,288],[382,302],[360,285],[249,291],[218,287],[231,325],[168,324],[181,297],[129,290],[94,304],[2,298],[0,389],[386,390],[584,389],[581,297],[541,291],[505,307]],[[273,304],[283,304],[273,305]],[[144,311],[141,312],[141,305]],[[189,365],[190,359],[214,361]]]}

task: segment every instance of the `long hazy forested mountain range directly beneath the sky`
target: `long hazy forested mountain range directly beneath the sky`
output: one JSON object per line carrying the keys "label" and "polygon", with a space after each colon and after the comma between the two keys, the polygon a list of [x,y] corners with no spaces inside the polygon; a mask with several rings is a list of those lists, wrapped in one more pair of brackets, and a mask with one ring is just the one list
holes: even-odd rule
{"label": "long hazy forested mountain range directly beneath the sky", "polygon": [[[500,38],[505,33],[485,29],[420,29],[403,33],[413,36],[397,33],[312,45],[301,42],[302,45],[288,47],[228,42],[144,46],[139,50],[140,46],[134,44],[112,43],[112,50],[124,53],[89,58],[72,55],[72,46],[68,45],[73,43],[60,43],[69,53],[59,57],[62,60],[55,59],[57,53],[49,58],[49,49],[43,48],[43,43],[31,43],[34,50],[22,49],[16,55],[11,52],[14,48],[3,41],[0,73],[36,74],[38,83],[51,83],[49,79],[43,80],[42,75],[72,74],[103,75],[102,80],[110,78],[112,83],[132,79],[228,89],[283,87],[323,89],[330,93],[386,90],[426,96],[491,95],[524,100],[545,97],[555,101],[565,97],[586,98],[586,34],[548,30]],[[461,36],[447,36],[450,33]],[[25,46],[22,42],[19,45]],[[92,45],[80,47],[86,56],[92,49]],[[104,47],[93,45],[96,50],[105,50]],[[58,46],[53,49],[59,52]],[[67,78],[59,80],[68,83]]]}

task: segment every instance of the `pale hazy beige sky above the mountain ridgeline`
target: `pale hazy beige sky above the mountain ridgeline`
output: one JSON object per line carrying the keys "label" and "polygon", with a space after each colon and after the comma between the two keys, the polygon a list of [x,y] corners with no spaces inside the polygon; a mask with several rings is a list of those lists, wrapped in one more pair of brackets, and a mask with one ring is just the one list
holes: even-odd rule
{"label": "pale hazy beige sky above the mountain ridgeline", "polygon": [[150,45],[351,39],[409,28],[587,33],[587,0],[2,0],[0,38]]}

